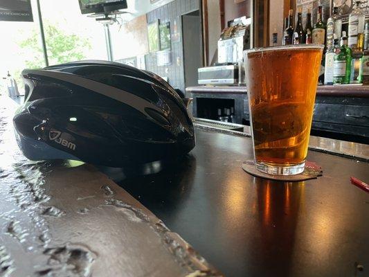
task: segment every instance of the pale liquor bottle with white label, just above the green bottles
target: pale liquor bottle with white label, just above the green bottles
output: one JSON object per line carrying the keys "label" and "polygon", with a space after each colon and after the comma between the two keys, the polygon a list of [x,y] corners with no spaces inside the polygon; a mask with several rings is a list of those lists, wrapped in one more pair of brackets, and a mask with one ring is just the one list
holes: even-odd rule
{"label": "pale liquor bottle with white label, just above the green bottles", "polygon": [[354,50],[357,48],[358,36],[363,33],[365,15],[361,10],[360,1],[355,1],[355,6],[348,19],[348,46]]}

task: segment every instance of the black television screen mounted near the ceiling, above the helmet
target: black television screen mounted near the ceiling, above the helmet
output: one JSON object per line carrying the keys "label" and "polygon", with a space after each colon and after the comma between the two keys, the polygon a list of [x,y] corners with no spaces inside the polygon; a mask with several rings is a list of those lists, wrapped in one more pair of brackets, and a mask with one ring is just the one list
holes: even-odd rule
{"label": "black television screen mounted near the ceiling, above the helmet", "polygon": [[82,14],[107,13],[127,8],[126,0],[79,0]]}

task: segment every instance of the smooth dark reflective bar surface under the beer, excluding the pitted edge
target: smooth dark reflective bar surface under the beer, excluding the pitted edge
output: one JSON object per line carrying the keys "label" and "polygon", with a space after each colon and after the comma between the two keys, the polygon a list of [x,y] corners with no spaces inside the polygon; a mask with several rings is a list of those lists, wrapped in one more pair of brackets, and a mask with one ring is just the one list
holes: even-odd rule
{"label": "smooth dark reflective bar surface under the beer, excluding the pitted edge", "polygon": [[253,158],[244,134],[197,127],[196,135],[177,166],[120,186],[225,276],[368,276],[369,194],[350,184],[369,182],[368,160],[309,151],[323,177],[270,181],[242,170]]}

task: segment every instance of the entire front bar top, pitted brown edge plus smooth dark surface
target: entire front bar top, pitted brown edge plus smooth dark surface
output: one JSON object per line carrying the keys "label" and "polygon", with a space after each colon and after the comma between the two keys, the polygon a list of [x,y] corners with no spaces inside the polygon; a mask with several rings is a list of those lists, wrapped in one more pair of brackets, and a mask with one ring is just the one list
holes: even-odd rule
{"label": "entire front bar top, pitted brown edge plus smooth dark surface", "polygon": [[369,182],[368,145],[313,139],[323,177],[278,182],[242,170],[249,134],[197,126],[186,157],[114,183],[90,165],[28,161],[6,114],[1,276],[368,275],[369,194],[350,184]]}

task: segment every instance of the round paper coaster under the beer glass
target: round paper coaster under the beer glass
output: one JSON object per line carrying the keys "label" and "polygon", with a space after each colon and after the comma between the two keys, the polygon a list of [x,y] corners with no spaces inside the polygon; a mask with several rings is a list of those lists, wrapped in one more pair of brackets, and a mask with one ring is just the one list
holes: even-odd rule
{"label": "round paper coaster under the beer glass", "polygon": [[316,179],[323,175],[321,166],[318,166],[312,161],[306,161],[304,172],[298,175],[270,175],[257,170],[255,168],[254,161],[244,161],[242,163],[242,169],[253,176],[277,181],[305,181],[309,179]]}

